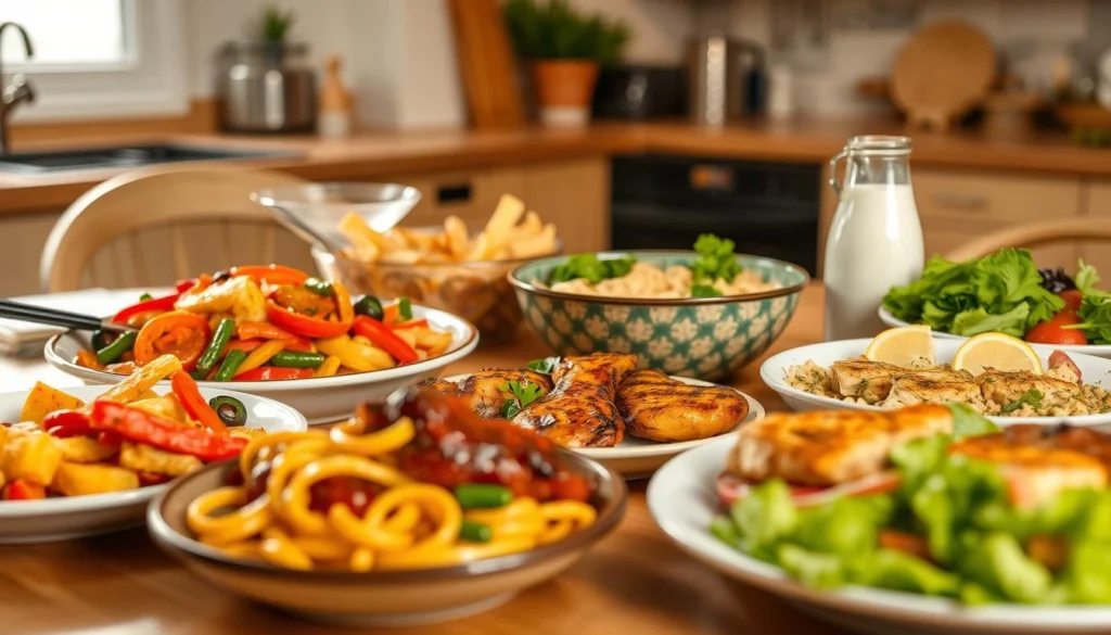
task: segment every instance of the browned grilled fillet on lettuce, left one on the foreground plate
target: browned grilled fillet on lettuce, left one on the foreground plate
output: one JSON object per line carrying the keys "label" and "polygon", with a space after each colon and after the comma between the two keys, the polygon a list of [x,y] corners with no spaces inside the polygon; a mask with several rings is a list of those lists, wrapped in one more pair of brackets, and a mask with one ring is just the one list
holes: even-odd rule
{"label": "browned grilled fillet on lettuce, left one on the foreground plate", "polygon": [[779,477],[795,485],[837,485],[883,469],[897,445],[952,428],[952,413],[938,405],[889,413],[773,413],[737,433],[725,469],[751,482]]}

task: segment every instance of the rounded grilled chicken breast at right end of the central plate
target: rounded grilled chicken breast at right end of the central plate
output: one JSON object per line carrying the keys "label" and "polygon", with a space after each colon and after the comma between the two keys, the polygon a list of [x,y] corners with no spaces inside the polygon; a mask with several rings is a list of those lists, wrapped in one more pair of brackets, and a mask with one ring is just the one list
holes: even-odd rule
{"label": "rounded grilled chicken breast at right end of the central plate", "polygon": [[625,430],[640,438],[673,443],[720,435],[749,414],[749,403],[723,386],[695,386],[659,370],[638,370],[618,386]]}

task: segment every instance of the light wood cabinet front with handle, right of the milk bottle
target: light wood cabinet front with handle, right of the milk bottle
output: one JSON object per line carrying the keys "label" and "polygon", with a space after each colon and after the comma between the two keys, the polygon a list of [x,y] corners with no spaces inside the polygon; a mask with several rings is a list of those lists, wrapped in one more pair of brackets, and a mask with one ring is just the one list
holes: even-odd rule
{"label": "light wood cabinet front with handle, right of the milk bottle", "polygon": [[[927,257],[1004,227],[1081,215],[1079,178],[923,168],[911,178]],[[1042,267],[1072,269],[1079,254],[1073,242],[1033,249]]]}

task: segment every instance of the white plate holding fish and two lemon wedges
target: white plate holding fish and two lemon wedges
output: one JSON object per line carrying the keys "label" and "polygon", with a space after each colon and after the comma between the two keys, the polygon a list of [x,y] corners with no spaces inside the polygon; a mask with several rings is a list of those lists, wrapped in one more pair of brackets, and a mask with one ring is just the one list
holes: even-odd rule
{"label": "white plate holding fish and two lemon wedges", "polygon": [[[783,400],[787,401],[791,408],[795,410],[817,410],[817,409],[851,409],[851,410],[882,410],[878,406],[867,406],[863,404],[852,404],[849,401],[841,401],[839,399],[832,399],[830,397],[822,397],[820,395],[811,395],[804,390],[794,388],[787,384],[787,370],[788,368],[795,366],[798,364],[805,364],[807,360],[812,359],[815,364],[823,368],[829,368],[834,361],[840,361],[842,359],[851,359],[853,357],[860,357],[864,354],[864,349],[868,348],[868,343],[871,339],[843,339],[840,341],[827,341],[823,344],[811,344],[810,346],[800,346],[798,348],[792,348],[790,350],[784,350],[779,355],[773,355],[769,357],[767,361],[760,366],[760,378],[763,379],[764,384],[771,387],[772,390],[779,393]],[[953,355],[957,349],[964,344],[960,339],[934,339],[934,353],[938,356],[939,363],[948,363],[952,360]],[[1042,364],[1047,364],[1047,359],[1050,354],[1058,350],[1055,346],[1043,346],[1043,345],[1031,345],[1031,347],[1041,357]],[[1091,355],[1081,355],[1075,353],[1070,353],[1069,357],[1077,363],[1080,368],[1080,374],[1082,375],[1084,384],[1095,384],[1102,386],[1105,389],[1111,389],[1111,360],[1103,359],[1100,357],[1092,357]],[[1011,424],[1038,424],[1038,425],[1055,425],[1060,423],[1069,423],[1075,426],[1101,426],[1105,424],[1111,424],[1111,413],[1105,413],[1102,415],[1079,415],[1072,417],[988,417],[992,421],[1001,426],[1007,426]]]}

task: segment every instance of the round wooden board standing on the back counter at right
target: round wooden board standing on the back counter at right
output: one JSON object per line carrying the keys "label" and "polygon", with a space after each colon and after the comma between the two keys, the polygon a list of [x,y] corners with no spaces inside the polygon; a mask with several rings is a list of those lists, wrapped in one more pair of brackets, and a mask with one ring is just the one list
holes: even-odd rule
{"label": "round wooden board standing on the back counter at right", "polygon": [[899,52],[891,98],[914,127],[948,128],[988,95],[995,49],[982,31],[960,20],[934,22]]}

